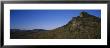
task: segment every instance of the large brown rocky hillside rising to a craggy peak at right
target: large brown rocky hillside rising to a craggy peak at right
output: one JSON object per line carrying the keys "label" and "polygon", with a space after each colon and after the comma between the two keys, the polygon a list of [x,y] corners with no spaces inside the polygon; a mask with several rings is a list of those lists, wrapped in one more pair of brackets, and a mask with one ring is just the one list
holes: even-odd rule
{"label": "large brown rocky hillside rising to a craggy peak at right", "polygon": [[101,19],[87,12],[81,12],[80,16],[73,17],[64,26],[46,32],[39,32],[38,29],[34,31],[34,33],[26,33],[18,36],[11,34],[11,37],[26,39],[100,39]]}

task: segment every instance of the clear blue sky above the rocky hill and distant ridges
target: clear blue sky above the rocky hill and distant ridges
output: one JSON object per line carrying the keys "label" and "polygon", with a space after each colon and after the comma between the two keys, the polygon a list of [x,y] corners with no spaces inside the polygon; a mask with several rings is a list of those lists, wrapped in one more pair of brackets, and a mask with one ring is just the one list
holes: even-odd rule
{"label": "clear blue sky above the rocky hill and distant ridges", "polygon": [[82,11],[101,16],[101,10],[10,10],[10,28],[51,30],[67,24]]}

